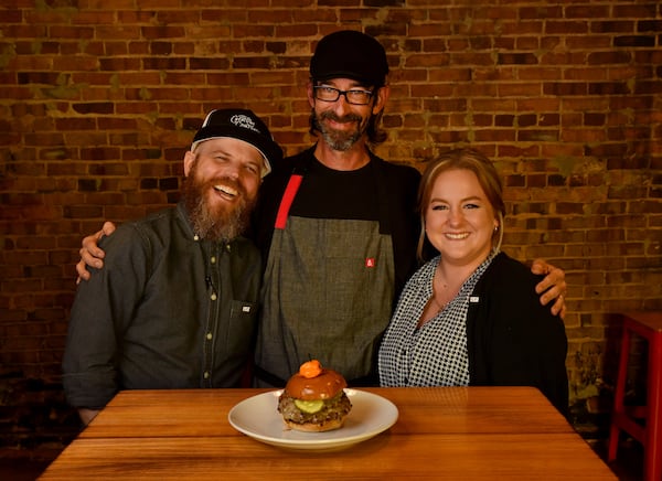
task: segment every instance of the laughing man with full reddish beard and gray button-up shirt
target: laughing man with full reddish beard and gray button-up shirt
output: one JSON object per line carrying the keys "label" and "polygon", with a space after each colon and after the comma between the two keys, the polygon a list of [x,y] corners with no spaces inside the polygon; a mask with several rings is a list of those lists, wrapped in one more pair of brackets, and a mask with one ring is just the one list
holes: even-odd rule
{"label": "laughing man with full reddish beard and gray button-up shirt", "polygon": [[214,110],[184,154],[182,201],[102,240],[105,266],[78,286],[63,360],[83,424],[119,389],[239,384],[261,276],[242,234],[281,156],[253,111]]}

